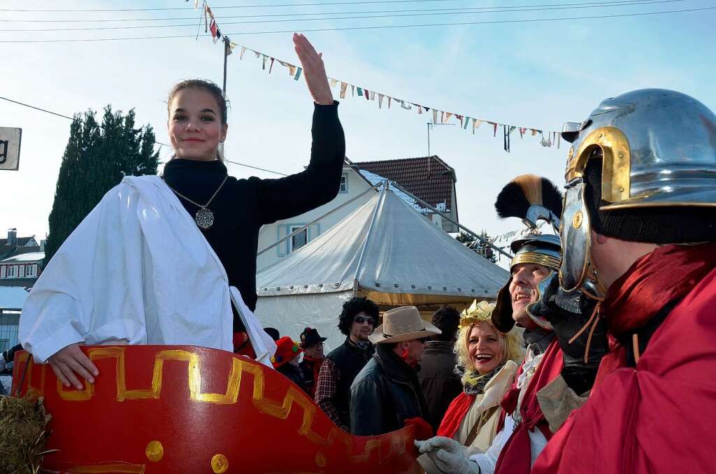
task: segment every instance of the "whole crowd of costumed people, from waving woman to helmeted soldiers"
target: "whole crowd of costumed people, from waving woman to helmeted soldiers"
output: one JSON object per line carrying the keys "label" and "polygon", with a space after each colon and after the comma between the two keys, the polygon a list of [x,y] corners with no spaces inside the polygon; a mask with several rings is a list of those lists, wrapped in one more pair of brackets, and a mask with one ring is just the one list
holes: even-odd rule
{"label": "whole crowd of costumed people, from waving woman to helmeted soldiers", "polygon": [[176,84],[164,175],[110,190],[29,294],[19,339],[34,360],[81,390],[101,377],[82,344],[236,352],[354,435],[414,427],[430,474],[712,472],[713,112],[637,90],[567,123],[566,193],[521,175],[495,202],[527,228],[493,304],[444,307],[430,323],[415,306],[381,317],[349,299],[337,318],[346,339],[324,356],[316,329],[294,342],[253,315],[259,228],[332,200],[345,156],[321,54],[299,34],[294,46],[314,100],[309,166],[276,180],[228,176],[221,89]]}

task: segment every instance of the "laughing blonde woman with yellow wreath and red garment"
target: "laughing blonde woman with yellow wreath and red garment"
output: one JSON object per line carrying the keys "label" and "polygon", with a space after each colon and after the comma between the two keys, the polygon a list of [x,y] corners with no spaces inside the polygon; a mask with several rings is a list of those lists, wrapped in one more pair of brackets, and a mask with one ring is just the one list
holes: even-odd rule
{"label": "laughing blonde woman with yellow wreath and red garment", "polygon": [[492,325],[494,305],[475,301],[460,318],[455,343],[458,369],[464,367],[463,392],[442,419],[438,436],[452,438],[471,450],[485,452],[492,444],[500,401],[517,373],[522,357],[516,329],[502,334]]}

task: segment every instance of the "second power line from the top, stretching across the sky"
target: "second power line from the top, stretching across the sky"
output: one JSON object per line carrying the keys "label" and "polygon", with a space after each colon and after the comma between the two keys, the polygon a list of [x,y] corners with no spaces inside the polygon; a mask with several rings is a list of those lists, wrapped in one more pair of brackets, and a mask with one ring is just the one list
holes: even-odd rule
{"label": "second power line from the top, stretching across the sky", "polygon": [[[665,0],[667,1],[686,1],[686,0]],[[467,11],[467,10],[495,10],[495,11],[511,11],[521,8],[538,8],[548,6],[581,6],[581,5],[609,5],[622,6],[630,4],[649,4],[654,3],[652,0],[613,0],[613,1],[589,1],[573,4],[541,4],[541,5],[513,5],[513,6],[465,6],[463,8],[442,8],[442,9],[407,9],[407,10],[367,10],[367,11],[314,11],[311,13],[276,13],[276,14],[254,14],[254,15],[229,15],[222,16],[222,19],[236,18],[271,18],[276,16],[311,16],[311,15],[353,15],[353,14],[374,14],[374,13],[413,13],[420,11]],[[174,21],[174,20],[195,20],[195,16],[180,16],[174,18],[127,18],[127,19],[72,19],[72,20],[19,20],[19,19],[0,19],[0,22],[12,23],[98,23],[98,22],[119,22],[119,21]]]}

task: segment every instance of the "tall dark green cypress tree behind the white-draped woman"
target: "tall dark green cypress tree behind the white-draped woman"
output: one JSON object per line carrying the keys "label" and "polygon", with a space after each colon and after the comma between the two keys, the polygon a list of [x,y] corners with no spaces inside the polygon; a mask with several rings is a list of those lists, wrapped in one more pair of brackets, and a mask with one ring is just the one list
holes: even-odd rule
{"label": "tall dark green cypress tree behind the white-draped woman", "polygon": [[105,107],[102,125],[92,110],[74,115],[62,155],[54,203],[49,214],[45,263],[102,197],[129,175],[155,175],[159,153],[150,125],[135,128],[135,112],[127,115]]}

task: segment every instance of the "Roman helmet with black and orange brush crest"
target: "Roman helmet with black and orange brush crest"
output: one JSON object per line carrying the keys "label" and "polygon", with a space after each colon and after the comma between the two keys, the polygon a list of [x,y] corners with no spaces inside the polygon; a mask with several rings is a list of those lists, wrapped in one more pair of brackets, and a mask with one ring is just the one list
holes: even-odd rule
{"label": "Roman helmet with black and orange brush crest", "polygon": [[[526,226],[521,235],[510,243],[514,255],[510,269],[519,263],[538,263],[553,272],[558,271],[562,258],[559,236],[543,234],[538,228],[538,221],[546,221],[555,231],[559,228],[562,195],[550,180],[537,175],[518,176],[500,191],[495,200],[495,210],[500,219],[518,217]],[[512,276],[498,291],[492,314],[493,326],[503,333],[515,325],[512,318],[511,282]],[[541,324],[541,321],[536,322]]]}

